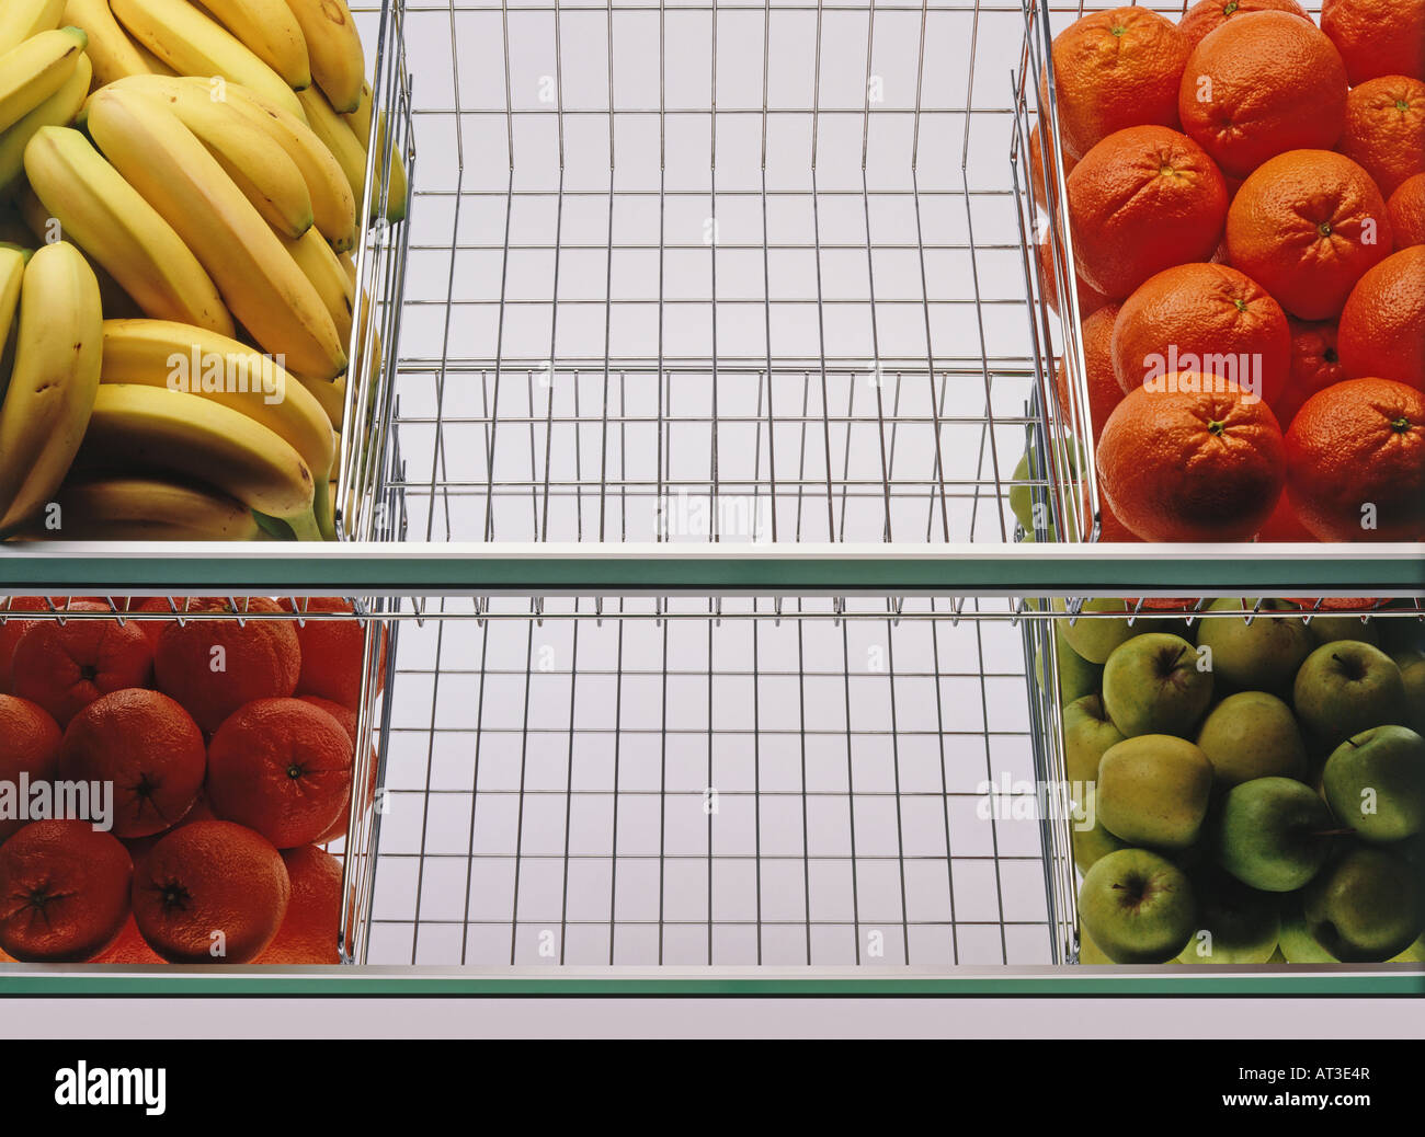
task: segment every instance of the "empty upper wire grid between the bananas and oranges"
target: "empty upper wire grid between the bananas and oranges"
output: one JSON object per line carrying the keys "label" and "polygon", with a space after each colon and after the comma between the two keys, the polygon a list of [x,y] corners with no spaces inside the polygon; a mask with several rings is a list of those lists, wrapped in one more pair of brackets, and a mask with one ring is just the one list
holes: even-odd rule
{"label": "empty upper wire grid between the bananas and oranges", "polygon": [[[1007,540],[1017,6],[405,9],[432,540]],[[429,455],[429,459],[425,456]]]}

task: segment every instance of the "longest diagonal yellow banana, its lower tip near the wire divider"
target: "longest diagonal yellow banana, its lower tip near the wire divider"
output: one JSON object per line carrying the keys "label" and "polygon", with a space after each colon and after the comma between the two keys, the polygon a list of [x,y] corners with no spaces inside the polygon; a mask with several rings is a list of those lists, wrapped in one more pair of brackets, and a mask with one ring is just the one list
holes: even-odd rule
{"label": "longest diagonal yellow banana, its lower tip near the wire divider", "polygon": [[192,131],[138,91],[108,87],[88,105],[100,150],[187,242],[264,351],[302,375],[341,375],[346,349],[322,298]]}

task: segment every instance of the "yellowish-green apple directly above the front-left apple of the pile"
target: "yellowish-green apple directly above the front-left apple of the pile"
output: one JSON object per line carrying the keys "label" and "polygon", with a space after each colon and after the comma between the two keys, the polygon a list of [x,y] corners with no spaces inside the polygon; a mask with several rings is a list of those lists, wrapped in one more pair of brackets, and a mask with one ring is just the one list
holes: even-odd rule
{"label": "yellowish-green apple directly above the front-left apple of the pile", "polygon": [[1099,761],[1099,819],[1129,845],[1186,849],[1203,829],[1213,764],[1184,738],[1140,734]]}

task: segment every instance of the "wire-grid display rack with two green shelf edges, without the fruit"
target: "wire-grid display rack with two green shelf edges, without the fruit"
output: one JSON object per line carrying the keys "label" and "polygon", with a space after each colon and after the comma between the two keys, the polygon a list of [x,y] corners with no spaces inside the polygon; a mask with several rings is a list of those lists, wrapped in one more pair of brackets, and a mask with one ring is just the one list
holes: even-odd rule
{"label": "wire-grid display rack with two green shelf edges, without the fruit", "polygon": [[1053,623],[1425,577],[1399,547],[1016,540],[1012,494],[1060,493],[1016,472],[1052,382],[1017,1],[388,7],[420,164],[380,245],[399,359],[358,540],[0,557],[0,593],[115,607],[368,597],[393,663],[362,710],[386,811],[348,842],[356,966],[0,982],[1419,993],[1409,965],[1062,966],[1069,832],[996,801],[1063,778]]}

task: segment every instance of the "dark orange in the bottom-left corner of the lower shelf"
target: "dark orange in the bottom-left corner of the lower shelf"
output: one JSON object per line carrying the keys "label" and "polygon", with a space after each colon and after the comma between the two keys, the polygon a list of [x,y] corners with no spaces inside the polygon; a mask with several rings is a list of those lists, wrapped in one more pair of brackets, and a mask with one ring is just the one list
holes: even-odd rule
{"label": "dark orange in the bottom-left corner of the lower shelf", "polygon": [[34,821],[0,845],[0,947],[24,962],[78,963],[128,916],[133,863],[87,821]]}

